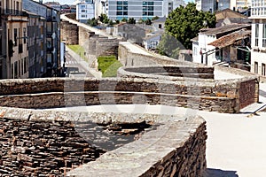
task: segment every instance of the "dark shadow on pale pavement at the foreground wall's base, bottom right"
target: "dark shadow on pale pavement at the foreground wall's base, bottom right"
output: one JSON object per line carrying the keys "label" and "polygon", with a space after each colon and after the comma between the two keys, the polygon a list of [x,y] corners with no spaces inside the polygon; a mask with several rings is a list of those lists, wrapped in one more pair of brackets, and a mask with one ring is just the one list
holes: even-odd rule
{"label": "dark shadow on pale pavement at the foreground wall's base, bottom right", "polygon": [[204,177],[239,177],[237,171],[223,171],[220,169],[207,168]]}

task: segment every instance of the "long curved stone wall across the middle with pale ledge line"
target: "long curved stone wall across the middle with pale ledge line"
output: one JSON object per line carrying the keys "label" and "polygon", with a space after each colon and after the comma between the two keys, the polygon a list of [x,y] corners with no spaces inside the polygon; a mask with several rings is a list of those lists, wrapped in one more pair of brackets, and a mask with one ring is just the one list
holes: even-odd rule
{"label": "long curved stone wall across the middle with pale ledge line", "polygon": [[[163,81],[153,79],[35,79],[0,81],[1,106],[51,108],[93,104],[165,104],[215,112],[239,112],[239,89],[233,81]],[[77,92],[78,91],[78,92]],[[258,88],[247,90],[248,104]],[[253,102],[253,103],[254,103]]]}

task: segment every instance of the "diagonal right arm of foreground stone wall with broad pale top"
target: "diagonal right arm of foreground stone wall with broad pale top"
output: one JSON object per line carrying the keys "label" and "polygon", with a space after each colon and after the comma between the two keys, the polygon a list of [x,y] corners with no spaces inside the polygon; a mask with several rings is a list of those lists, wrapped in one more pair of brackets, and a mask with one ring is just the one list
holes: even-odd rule
{"label": "diagonal right arm of foreground stone wall with broad pale top", "polygon": [[[177,131],[176,131],[177,130]],[[206,125],[199,118],[171,122],[140,139],[106,152],[67,176],[203,176]]]}

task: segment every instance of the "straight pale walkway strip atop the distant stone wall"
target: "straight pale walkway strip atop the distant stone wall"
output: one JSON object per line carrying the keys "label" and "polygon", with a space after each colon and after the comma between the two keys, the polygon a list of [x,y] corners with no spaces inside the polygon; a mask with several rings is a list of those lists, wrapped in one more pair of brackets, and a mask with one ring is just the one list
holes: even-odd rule
{"label": "straight pale walkway strip atop the distant stone wall", "polygon": [[64,20],[68,21],[69,23],[73,23],[73,24],[77,25],[78,27],[84,27],[84,28],[90,30],[91,32],[94,32],[96,35],[102,35],[102,36],[105,36],[108,38],[115,38],[115,37],[113,37],[113,35],[108,35],[106,32],[99,30],[95,27],[90,27],[90,26],[88,26],[84,23],[78,22],[74,19],[69,19],[68,17],[66,17],[66,14],[61,14],[60,19],[64,19]]}

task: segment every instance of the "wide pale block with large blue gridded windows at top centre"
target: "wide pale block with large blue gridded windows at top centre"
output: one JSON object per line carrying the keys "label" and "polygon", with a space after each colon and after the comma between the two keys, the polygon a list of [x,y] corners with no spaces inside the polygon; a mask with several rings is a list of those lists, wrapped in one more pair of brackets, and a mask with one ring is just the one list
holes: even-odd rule
{"label": "wide pale block with large blue gridded windows at top centre", "polygon": [[167,15],[168,1],[163,0],[108,0],[109,19],[152,19]]}

